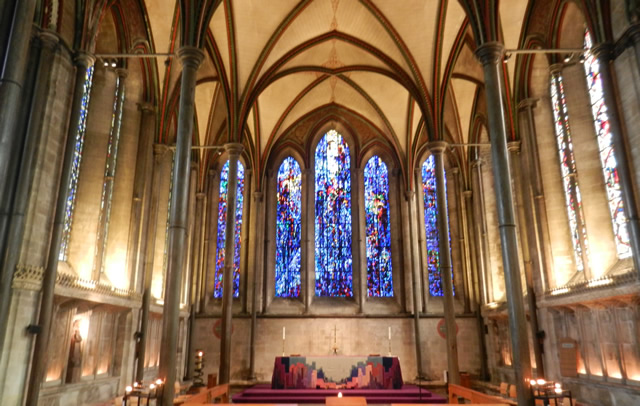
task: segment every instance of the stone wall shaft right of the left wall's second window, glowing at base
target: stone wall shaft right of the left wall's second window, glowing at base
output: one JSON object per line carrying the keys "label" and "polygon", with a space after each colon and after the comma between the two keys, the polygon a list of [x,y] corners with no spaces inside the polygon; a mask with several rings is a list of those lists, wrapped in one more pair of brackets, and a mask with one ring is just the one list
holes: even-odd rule
{"label": "stone wall shaft right of the left wall's second window, glowing at base", "polygon": [[127,247],[127,265],[131,286],[142,290],[144,284],[144,264],[146,254],[146,231],[149,225],[150,192],[153,176],[153,138],[155,135],[156,112],[151,103],[138,105],[140,110],[140,130],[136,171],[133,181],[133,202]]}

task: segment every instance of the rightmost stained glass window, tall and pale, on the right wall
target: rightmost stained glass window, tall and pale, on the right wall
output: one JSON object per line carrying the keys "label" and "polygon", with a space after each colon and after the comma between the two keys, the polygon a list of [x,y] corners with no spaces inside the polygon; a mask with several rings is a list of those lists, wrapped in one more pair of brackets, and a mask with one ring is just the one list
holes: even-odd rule
{"label": "rightmost stained glass window, tall and pale, on the right wall", "polygon": [[[591,49],[592,46],[591,35],[587,30],[584,34],[584,48]],[[609,201],[613,233],[616,237],[618,257],[627,258],[631,256],[631,245],[629,242],[627,217],[624,214],[620,180],[618,179],[618,163],[611,139],[612,134],[609,128],[607,105],[604,102],[602,78],[600,77],[600,61],[590,52],[587,52],[585,55],[584,69],[587,76],[587,86],[591,99],[591,113],[593,114],[593,123],[598,138],[600,163],[602,164],[602,174],[604,175],[604,184],[607,190],[607,200]]]}

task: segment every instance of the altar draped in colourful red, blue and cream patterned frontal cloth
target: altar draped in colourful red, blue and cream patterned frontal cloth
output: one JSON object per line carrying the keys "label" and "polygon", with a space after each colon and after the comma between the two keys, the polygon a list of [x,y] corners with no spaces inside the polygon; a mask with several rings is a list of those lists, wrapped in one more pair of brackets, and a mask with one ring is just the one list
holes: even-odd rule
{"label": "altar draped in colourful red, blue and cream patterned frontal cloth", "polygon": [[401,389],[398,357],[276,357],[272,389]]}

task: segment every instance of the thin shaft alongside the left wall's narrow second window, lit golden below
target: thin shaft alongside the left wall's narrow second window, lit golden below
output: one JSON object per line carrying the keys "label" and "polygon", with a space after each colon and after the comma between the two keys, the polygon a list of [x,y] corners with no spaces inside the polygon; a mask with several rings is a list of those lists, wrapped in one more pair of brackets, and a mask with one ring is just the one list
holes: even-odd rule
{"label": "thin shaft alongside the left wall's narrow second window, lit golden below", "polygon": [[116,69],[116,100],[113,111],[114,119],[111,120],[111,130],[109,132],[109,143],[107,144],[106,171],[103,186],[103,206],[100,210],[98,232],[96,235],[96,257],[94,262],[94,278],[102,279],[102,271],[104,269],[105,254],[107,250],[107,240],[109,238],[109,218],[111,211],[111,200],[109,196],[113,193],[116,178],[116,163],[118,158],[118,146],[120,140],[120,128],[122,127],[122,109],[124,107],[125,97],[125,80],[127,71],[125,69]]}

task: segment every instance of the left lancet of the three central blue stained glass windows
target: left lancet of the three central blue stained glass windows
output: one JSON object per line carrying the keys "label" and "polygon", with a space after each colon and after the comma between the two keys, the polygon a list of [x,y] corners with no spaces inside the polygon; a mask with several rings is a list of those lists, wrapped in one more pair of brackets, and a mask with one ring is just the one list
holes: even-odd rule
{"label": "left lancet of the three central blue stained glass windows", "polygon": [[300,296],[302,172],[292,157],[278,170],[276,203],[276,296]]}

